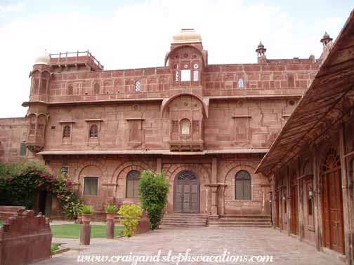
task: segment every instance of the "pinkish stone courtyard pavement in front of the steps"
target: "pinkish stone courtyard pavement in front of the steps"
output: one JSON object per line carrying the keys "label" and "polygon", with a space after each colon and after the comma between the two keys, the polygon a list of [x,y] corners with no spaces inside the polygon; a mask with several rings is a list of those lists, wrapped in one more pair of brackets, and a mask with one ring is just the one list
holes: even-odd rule
{"label": "pinkish stone courtyard pavement in front of the steps", "polygon": [[[138,264],[177,264],[172,261],[173,255],[185,252],[190,249],[189,257],[192,255],[222,255],[225,251],[229,256],[224,256],[224,261],[187,261],[179,264],[294,264],[294,265],[340,265],[338,259],[317,252],[315,247],[306,243],[300,243],[298,239],[291,238],[274,229],[268,228],[223,228],[205,227],[194,229],[158,229],[133,236],[132,238],[116,238],[107,240],[105,238],[93,238],[90,246],[79,246],[77,239],[53,238],[53,242],[65,243],[64,246],[72,250],[63,254],[55,255],[52,259],[37,262],[39,265],[71,265],[71,264],[134,264],[129,261],[84,261],[79,262],[78,257],[82,255],[103,255],[112,258],[112,255],[157,255],[161,250],[159,261],[138,262]],[[171,250],[170,261],[166,259]],[[230,262],[231,255],[273,255],[273,261],[262,262]],[[92,258],[92,257],[91,257]],[[102,258],[102,257],[101,257]],[[205,257],[204,257],[205,258]],[[221,258],[221,257],[219,257]],[[157,257],[155,257],[155,260]],[[220,260],[220,259],[219,259]]]}

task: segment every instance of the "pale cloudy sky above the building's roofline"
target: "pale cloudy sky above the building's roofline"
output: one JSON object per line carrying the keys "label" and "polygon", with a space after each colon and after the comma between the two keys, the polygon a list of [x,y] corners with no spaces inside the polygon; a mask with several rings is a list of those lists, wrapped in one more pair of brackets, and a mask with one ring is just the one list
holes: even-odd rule
{"label": "pale cloudy sky above the building's roofline", "polygon": [[0,0],[0,117],[24,116],[34,58],[90,49],[105,69],[162,66],[171,37],[194,27],[209,64],[319,57],[327,31],[336,37],[353,1],[4,1]]}

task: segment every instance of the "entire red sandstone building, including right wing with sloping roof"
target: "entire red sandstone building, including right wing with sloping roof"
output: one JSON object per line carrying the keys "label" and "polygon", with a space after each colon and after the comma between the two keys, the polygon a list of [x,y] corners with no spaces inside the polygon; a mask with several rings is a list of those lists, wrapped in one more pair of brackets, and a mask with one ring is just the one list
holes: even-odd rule
{"label": "entire red sandstone building, including right wing with sloping roof", "polygon": [[[0,120],[1,161],[36,158],[55,174],[62,170],[97,212],[106,203],[138,203],[140,172],[163,171],[170,183],[168,213],[204,214],[215,225],[232,217],[272,214],[281,231],[318,250],[346,254],[350,263],[353,199],[343,188],[344,200],[350,201],[343,206],[338,176],[353,179],[353,169],[339,165],[353,158],[353,143],[343,144],[352,139],[353,125],[348,123],[340,130],[348,130],[346,136],[333,136],[332,142],[312,128],[325,130],[332,121],[344,121],[326,118],[339,109],[334,103],[342,100],[353,109],[353,101],[341,97],[343,90],[353,91],[349,63],[346,73],[332,68],[346,77],[342,83],[335,77],[321,80],[332,64],[353,60],[345,50],[353,47],[352,17],[335,45],[328,34],[323,36],[318,60],[313,55],[269,60],[260,43],[256,64],[208,64],[208,52],[193,29],[173,36],[164,67],[104,71],[89,52],[44,54],[30,74],[25,118]],[[337,54],[345,59],[336,60]],[[312,144],[321,141],[327,142]],[[307,158],[299,156],[301,148]],[[328,154],[324,161],[336,165],[313,173],[314,165],[322,163],[320,156],[318,161],[313,157],[322,149]],[[334,178],[322,182],[321,174],[326,179],[335,175],[336,183]],[[339,200],[336,209],[329,203],[332,195]],[[38,208],[58,215],[55,200],[46,194],[39,196]],[[336,229],[329,228],[334,222]]]}

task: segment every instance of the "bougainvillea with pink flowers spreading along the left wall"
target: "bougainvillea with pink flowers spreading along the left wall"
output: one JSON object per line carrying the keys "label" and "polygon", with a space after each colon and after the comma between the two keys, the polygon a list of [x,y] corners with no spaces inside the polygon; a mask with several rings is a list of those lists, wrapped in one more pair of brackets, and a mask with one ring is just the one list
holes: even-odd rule
{"label": "bougainvillea with pink flowers spreading along the left wall", "polygon": [[[11,167],[13,165],[8,166]],[[3,168],[6,167],[3,165]],[[72,189],[72,182],[66,175],[54,177],[41,165],[27,163],[17,170],[4,170],[0,176],[0,205],[31,209],[38,191],[47,191],[57,198],[69,218],[77,217],[81,210],[81,199]]]}

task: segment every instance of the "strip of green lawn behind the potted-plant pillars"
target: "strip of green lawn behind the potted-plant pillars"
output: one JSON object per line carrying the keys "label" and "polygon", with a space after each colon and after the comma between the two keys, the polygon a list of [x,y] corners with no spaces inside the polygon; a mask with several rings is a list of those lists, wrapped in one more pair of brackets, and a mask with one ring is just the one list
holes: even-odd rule
{"label": "strip of green lawn behind the potted-plant pillars", "polygon": [[[91,225],[91,238],[105,238],[105,225]],[[79,238],[81,226],[79,224],[61,224],[51,226],[54,238]],[[122,235],[123,227],[114,227],[114,236]]]}

